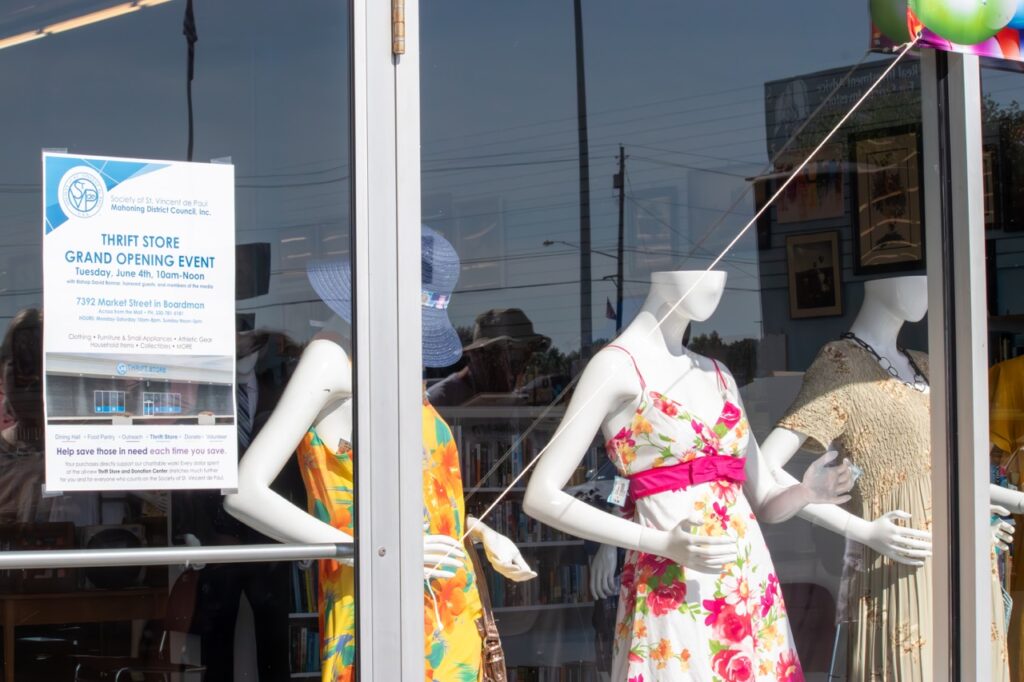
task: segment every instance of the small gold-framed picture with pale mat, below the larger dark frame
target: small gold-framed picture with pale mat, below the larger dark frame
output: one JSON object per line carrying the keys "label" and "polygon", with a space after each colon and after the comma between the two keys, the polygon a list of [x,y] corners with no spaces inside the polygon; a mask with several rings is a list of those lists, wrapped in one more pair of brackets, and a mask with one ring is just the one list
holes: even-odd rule
{"label": "small gold-framed picture with pale mat, below the larger dark frame", "polygon": [[843,314],[838,231],[787,236],[785,262],[790,273],[791,317]]}

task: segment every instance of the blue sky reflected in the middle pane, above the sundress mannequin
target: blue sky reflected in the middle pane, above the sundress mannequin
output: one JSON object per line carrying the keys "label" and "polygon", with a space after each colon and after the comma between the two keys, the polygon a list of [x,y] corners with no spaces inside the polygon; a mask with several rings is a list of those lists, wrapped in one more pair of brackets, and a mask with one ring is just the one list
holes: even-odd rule
{"label": "blue sky reflected in the middle pane, above the sundress mannequin", "polygon": [[[463,251],[488,219],[503,228],[497,261],[464,253],[473,269],[463,286],[486,291],[463,291],[452,313],[468,325],[489,307],[522,307],[562,348],[579,344],[579,255],[542,242],[579,239],[571,12],[567,1],[451,1],[421,11],[424,213]],[[750,219],[749,198],[727,210],[767,162],[764,83],[857,61],[867,8],[591,0],[584,17],[593,245],[615,249],[611,177],[624,143],[629,315],[646,293],[645,260],[705,267]],[[700,327],[758,336],[753,230],[727,263],[727,296]],[[593,258],[595,337],[613,332],[604,310],[614,285],[602,278],[614,267]]]}

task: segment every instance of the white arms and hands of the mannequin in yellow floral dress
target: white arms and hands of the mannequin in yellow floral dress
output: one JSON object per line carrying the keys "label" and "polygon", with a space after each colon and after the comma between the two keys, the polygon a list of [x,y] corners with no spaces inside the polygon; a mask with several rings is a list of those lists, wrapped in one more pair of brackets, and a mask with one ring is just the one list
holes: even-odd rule
{"label": "white arms and hands of the mannequin in yellow floral dress", "polygon": [[[281,400],[239,464],[239,492],[224,497],[224,509],[247,525],[281,542],[352,542],[347,534],[307,514],[270,488],[311,424],[326,443],[350,441],[351,367],[334,341],[315,339],[302,352]],[[419,462],[417,456],[415,460]],[[467,519],[471,535],[483,543],[495,570],[514,581],[534,578],[511,540],[483,523]],[[461,543],[443,535],[423,539],[427,578],[445,578],[463,567]]]}

